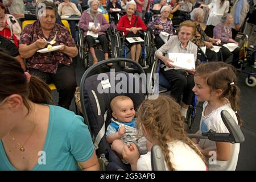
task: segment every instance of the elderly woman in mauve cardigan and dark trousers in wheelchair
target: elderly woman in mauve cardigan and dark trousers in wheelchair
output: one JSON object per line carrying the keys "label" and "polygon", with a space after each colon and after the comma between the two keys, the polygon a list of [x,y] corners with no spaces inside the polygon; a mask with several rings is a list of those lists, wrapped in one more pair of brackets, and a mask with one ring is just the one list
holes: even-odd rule
{"label": "elderly woman in mauve cardigan and dark trousers in wheelchair", "polygon": [[[97,0],[89,0],[89,10],[82,13],[79,21],[79,27],[84,30],[85,41],[88,43],[90,53],[92,53],[93,64],[98,63],[97,56],[94,50],[95,38],[100,40],[105,59],[109,59],[108,53],[108,39],[106,37],[106,30],[110,27],[104,15],[98,12],[100,2]],[[90,35],[87,35],[89,32]],[[94,37],[92,36],[94,35]]]}

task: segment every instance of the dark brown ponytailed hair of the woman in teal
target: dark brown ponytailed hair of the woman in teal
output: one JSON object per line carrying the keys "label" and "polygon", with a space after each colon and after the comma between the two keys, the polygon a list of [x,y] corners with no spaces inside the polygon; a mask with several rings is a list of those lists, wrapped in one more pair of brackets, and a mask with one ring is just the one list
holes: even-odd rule
{"label": "dark brown ponytailed hair of the woman in teal", "polygon": [[0,49],[0,102],[11,94],[22,96],[23,104],[31,110],[28,100],[36,104],[53,104],[51,89],[36,76],[31,76],[30,82],[18,60],[3,53]]}

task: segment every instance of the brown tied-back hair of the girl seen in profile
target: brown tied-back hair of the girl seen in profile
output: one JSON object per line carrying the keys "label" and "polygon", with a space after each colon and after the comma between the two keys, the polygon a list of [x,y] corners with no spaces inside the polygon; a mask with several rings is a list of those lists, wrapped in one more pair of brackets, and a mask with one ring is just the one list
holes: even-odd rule
{"label": "brown tied-back hair of the girl seen in profile", "polygon": [[[202,63],[196,68],[195,76],[203,78],[211,91],[221,89],[221,98],[227,98],[234,111],[239,110],[240,89],[237,86],[236,68],[223,62]],[[230,84],[232,82],[234,84]],[[241,126],[242,121],[237,113],[236,115]]]}

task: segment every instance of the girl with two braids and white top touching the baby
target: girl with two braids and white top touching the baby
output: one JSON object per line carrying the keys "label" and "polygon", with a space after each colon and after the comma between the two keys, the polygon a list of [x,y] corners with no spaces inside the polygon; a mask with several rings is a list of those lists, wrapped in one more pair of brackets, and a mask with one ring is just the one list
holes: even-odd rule
{"label": "girl with two braids and white top touching the baby", "polygon": [[[164,154],[166,169],[206,170],[204,155],[185,133],[180,106],[169,96],[145,100],[137,111],[137,129],[142,129],[146,139],[158,144]],[[123,158],[133,170],[151,170],[151,152],[139,157],[137,147],[123,147]]]}

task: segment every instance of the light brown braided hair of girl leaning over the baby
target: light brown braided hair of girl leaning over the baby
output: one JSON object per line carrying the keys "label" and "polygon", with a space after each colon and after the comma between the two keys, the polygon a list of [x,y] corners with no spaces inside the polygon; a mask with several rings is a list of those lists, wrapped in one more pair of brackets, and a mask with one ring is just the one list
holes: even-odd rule
{"label": "light brown braided hair of girl leaning over the baby", "polygon": [[180,105],[170,96],[159,95],[156,100],[145,100],[137,111],[137,128],[148,131],[152,140],[162,148],[168,169],[175,171],[171,163],[168,143],[181,140],[188,144],[205,163],[205,157],[189,139],[185,132],[185,124],[181,118]]}

